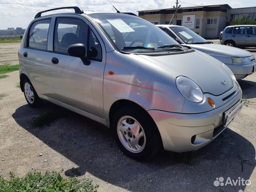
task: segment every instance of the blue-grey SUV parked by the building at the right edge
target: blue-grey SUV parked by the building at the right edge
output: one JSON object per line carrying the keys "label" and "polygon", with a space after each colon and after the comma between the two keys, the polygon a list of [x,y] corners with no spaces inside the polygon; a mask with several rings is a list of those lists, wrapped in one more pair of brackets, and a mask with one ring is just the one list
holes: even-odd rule
{"label": "blue-grey SUV parked by the building at the right edge", "polygon": [[234,25],[220,32],[220,44],[232,47],[256,47],[256,25]]}

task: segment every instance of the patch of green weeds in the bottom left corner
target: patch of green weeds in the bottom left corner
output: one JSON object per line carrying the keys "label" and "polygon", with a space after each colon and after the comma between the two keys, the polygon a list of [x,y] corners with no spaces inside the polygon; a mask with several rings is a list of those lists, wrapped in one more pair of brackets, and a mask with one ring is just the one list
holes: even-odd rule
{"label": "patch of green weeds in the bottom left corner", "polygon": [[0,192],[97,192],[97,188],[92,180],[64,179],[56,171],[46,171],[45,174],[29,172],[22,178],[11,172],[9,180],[0,176]]}

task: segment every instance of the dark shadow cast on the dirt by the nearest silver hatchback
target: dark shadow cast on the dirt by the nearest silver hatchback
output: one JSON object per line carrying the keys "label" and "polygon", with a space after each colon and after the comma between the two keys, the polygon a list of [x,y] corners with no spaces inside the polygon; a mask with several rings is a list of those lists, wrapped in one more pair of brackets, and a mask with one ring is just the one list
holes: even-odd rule
{"label": "dark shadow cast on the dirt by the nearest silver hatchback", "polygon": [[[47,126],[33,127],[33,117],[40,114],[60,116]],[[108,128],[49,102],[39,109],[21,106],[12,117],[22,128],[78,165],[64,170],[66,176],[89,172],[130,191],[244,190],[246,186],[216,188],[213,182],[220,176],[247,180],[256,164],[254,146],[229,128],[195,152],[162,151],[153,160],[137,162],[122,154]]]}

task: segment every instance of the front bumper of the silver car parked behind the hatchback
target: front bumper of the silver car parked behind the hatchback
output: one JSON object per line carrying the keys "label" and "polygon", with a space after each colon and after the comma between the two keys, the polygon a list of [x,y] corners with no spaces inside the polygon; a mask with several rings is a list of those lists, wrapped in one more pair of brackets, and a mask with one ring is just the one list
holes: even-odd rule
{"label": "front bumper of the silver car parked behind the hatchback", "polygon": [[240,80],[245,78],[246,76],[253,74],[254,68],[256,68],[256,63],[250,65],[234,65],[234,64],[226,64],[234,73],[236,80]]}

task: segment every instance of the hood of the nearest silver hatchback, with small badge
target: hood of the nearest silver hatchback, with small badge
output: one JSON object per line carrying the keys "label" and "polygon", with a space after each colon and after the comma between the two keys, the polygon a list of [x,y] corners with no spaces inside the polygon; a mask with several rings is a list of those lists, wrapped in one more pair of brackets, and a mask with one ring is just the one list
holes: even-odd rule
{"label": "hood of the nearest silver hatchback, with small badge", "polygon": [[[192,79],[204,93],[220,95],[234,86],[232,77],[228,75],[222,63],[202,52],[194,51],[164,56],[139,56],[164,68],[174,78],[186,76]],[[226,84],[222,85],[222,81],[225,81]]]}

